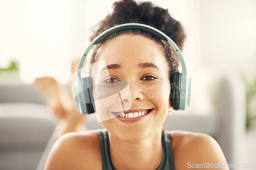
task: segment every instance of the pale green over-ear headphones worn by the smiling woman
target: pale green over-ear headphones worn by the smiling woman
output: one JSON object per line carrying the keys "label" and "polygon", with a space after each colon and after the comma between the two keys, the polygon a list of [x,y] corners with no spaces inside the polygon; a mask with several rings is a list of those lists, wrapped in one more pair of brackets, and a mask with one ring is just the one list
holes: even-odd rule
{"label": "pale green over-ear headphones worn by the smiling woman", "polygon": [[88,53],[90,52],[93,45],[102,42],[106,37],[111,34],[127,29],[137,29],[145,32],[152,33],[158,38],[168,41],[170,46],[173,47],[175,53],[177,54],[181,66],[182,73],[174,72],[170,77],[170,100],[172,101],[172,107],[174,110],[185,110],[190,104],[190,90],[191,90],[191,79],[187,76],[186,65],[182,57],[181,51],[178,46],[174,43],[163,32],[155,29],[154,27],[147,26],[141,23],[124,23],[115,27],[112,27],[100,35],[98,35],[87,47],[83,56],[81,57],[78,69],[77,69],[77,80],[73,84],[73,95],[75,98],[76,109],[82,114],[94,113],[94,99],[92,95],[93,82],[91,77],[81,78],[81,68],[86,60]]}

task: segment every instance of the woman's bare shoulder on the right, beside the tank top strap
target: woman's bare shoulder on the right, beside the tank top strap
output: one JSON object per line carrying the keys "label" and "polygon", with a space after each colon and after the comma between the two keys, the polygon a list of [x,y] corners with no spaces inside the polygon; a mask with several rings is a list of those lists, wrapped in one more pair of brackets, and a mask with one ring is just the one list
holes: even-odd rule
{"label": "woman's bare shoulder on the right, beside the tank top strap", "polygon": [[177,169],[207,169],[210,166],[209,169],[212,169],[212,166],[228,169],[224,167],[226,159],[220,145],[211,136],[203,133],[172,131],[170,137]]}

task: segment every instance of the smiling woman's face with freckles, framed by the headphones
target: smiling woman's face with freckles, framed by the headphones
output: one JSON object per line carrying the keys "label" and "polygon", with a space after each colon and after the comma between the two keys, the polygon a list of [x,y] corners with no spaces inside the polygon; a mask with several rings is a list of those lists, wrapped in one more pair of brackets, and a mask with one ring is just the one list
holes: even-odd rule
{"label": "smiling woman's face with freckles, framed by the headphones", "polygon": [[[170,107],[168,65],[161,46],[141,35],[122,34],[102,45],[98,61],[107,66],[94,70],[94,87],[107,87],[94,88],[94,98],[108,89],[113,93],[95,101],[102,125],[127,142],[138,142],[161,128]],[[125,83],[129,86],[120,91],[118,86]]]}

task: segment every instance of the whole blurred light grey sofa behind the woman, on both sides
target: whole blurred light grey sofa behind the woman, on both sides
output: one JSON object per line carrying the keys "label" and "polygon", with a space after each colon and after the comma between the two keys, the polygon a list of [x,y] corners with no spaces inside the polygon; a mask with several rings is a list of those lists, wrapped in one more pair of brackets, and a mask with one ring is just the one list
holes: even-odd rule
{"label": "whole blurred light grey sofa behind the woman, on both sides", "polygon": [[[241,78],[233,70],[208,71],[200,80],[191,106],[167,116],[164,129],[209,134],[228,163],[238,162],[245,135]],[[0,84],[0,169],[36,169],[56,123],[32,84]],[[88,129],[102,128],[94,116],[85,124]]]}

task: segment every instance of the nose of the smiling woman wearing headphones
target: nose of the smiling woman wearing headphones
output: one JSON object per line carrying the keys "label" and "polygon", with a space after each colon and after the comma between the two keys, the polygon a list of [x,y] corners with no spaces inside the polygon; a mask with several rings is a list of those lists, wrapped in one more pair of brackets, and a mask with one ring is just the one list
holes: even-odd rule
{"label": "nose of the smiling woman wearing headphones", "polygon": [[126,102],[138,102],[144,99],[143,89],[137,82],[129,82],[127,87],[120,91],[121,100]]}

